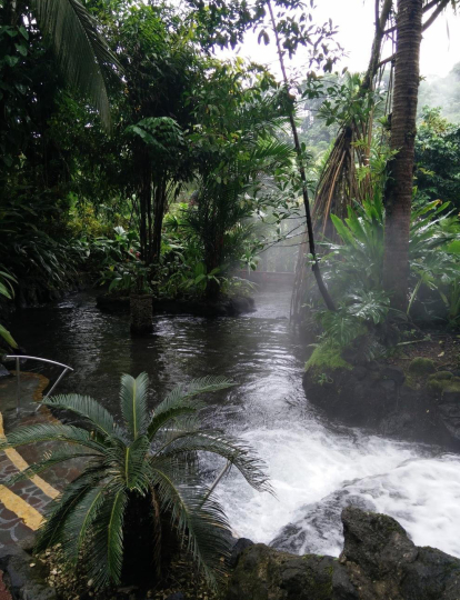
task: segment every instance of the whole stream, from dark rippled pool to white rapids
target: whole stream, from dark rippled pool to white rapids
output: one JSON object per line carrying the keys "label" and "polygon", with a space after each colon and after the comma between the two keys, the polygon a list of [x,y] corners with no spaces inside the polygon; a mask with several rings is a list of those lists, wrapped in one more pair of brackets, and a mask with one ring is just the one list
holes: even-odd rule
{"label": "whole stream, from dark rippled pool to white rapids", "polygon": [[[289,329],[289,292],[256,301],[257,311],[239,318],[156,316],[150,337],[131,339],[128,316],[102,313],[80,293],[18,313],[11,329],[28,353],[74,369],[60,392],[90,394],[113,412],[123,372],[149,373],[152,407],[178,382],[232,378],[233,388],[207,399],[206,419],[257,449],[276,492],[253,491],[237,472],[222,481],[238,536],[338,556],[340,510],[351,502],[391,514],[417,544],[460,557],[460,457],[328,423],[304,398],[306,351]],[[211,478],[221,463],[207,468]]]}

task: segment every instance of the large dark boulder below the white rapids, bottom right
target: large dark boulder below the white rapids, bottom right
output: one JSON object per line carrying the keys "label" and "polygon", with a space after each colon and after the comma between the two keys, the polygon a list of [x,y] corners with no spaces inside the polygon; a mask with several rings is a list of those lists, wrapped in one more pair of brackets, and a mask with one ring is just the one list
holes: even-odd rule
{"label": "large dark boulder below the white rapids, bottom right", "polygon": [[244,550],[227,600],[459,600],[459,559],[416,547],[384,514],[348,507],[342,522],[340,559]]}

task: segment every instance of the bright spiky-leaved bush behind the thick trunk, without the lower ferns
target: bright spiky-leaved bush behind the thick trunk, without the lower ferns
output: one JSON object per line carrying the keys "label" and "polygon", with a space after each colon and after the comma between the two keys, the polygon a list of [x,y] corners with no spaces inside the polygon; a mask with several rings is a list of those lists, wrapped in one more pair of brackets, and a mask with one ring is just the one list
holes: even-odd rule
{"label": "bright spiky-leaved bush behind the thick trunk, without the lower ferns", "polygon": [[[460,222],[448,209],[448,202],[434,201],[412,211],[409,242],[411,296],[408,313],[424,287],[426,292],[431,290],[438,298],[442,298],[451,318],[454,317],[451,310],[454,298],[452,304],[449,298],[460,280]],[[349,208],[347,219],[336,216],[331,218],[340,241],[323,242],[329,250],[323,258],[324,278],[336,296],[344,298],[342,306],[352,307],[350,299],[353,294],[363,298],[364,292],[372,292],[372,300],[368,298],[368,309],[373,304],[373,310],[381,317],[384,307],[388,312],[388,298],[382,291],[384,209],[380,196],[377,194],[362,207]],[[424,301],[429,303],[431,300],[432,296],[426,293]],[[379,322],[372,314],[360,317]]]}

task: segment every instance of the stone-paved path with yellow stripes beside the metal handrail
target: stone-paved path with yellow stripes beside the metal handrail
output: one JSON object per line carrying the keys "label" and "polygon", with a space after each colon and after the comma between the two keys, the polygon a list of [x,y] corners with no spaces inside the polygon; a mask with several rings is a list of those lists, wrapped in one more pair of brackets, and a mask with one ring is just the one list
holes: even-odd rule
{"label": "stone-paved path with yellow stripes beside the metal handrail", "polygon": [[[44,408],[34,413],[36,402],[41,399],[42,391],[48,383],[48,379],[43,376],[21,373],[21,407],[23,408],[20,416],[17,417],[16,378],[0,380],[1,438],[4,437],[4,430],[8,432],[13,427],[52,420],[51,414]],[[13,449],[0,452],[0,480],[6,476],[27,469],[29,463],[41,456],[41,452],[42,448],[32,447],[21,448],[21,453]],[[59,480],[63,474],[71,477],[73,473],[51,473],[50,478],[47,477],[50,479],[49,481],[36,476],[31,480],[18,482],[11,488],[0,484],[0,548],[19,542],[40,527],[44,507],[59,494],[51,479]],[[0,580],[0,600],[3,598]]]}

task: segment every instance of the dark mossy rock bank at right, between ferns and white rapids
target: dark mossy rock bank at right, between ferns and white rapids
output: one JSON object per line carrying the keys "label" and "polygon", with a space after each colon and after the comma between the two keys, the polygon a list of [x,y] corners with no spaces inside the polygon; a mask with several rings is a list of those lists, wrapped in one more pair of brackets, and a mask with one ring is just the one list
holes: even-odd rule
{"label": "dark mossy rock bank at right, between ferns and white rapids", "polygon": [[307,363],[306,396],[329,419],[460,451],[460,346],[450,341],[448,363],[447,344],[437,342],[426,344],[430,352],[418,348],[421,356],[411,349],[391,360],[343,356],[333,364]]}

